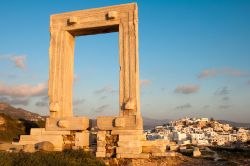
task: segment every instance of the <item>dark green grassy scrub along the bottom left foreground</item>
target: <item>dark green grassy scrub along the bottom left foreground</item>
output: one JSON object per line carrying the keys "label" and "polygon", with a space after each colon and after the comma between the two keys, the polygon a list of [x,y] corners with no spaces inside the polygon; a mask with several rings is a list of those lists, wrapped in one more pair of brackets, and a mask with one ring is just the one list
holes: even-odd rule
{"label": "dark green grassy scrub along the bottom left foreground", "polygon": [[82,150],[63,152],[0,153],[1,166],[102,166],[91,153]]}

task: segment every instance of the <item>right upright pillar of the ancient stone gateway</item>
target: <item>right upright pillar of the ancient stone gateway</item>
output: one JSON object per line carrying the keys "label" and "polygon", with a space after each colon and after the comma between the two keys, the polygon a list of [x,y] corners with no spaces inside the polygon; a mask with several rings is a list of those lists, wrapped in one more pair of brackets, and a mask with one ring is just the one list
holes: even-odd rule
{"label": "right upright pillar of the ancient stone gateway", "polygon": [[137,6],[119,24],[120,116],[140,116]]}

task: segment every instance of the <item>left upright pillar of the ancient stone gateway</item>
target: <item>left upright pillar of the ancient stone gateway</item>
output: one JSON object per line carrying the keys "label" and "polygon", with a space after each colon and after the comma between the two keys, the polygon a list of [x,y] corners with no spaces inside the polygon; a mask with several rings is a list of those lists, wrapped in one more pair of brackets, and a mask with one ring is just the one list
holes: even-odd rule
{"label": "left upright pillar of the ancient stone gateway", "polygon": [[51,118],[72,117],[74,36],[51,29],[49,49],[49,109]]}

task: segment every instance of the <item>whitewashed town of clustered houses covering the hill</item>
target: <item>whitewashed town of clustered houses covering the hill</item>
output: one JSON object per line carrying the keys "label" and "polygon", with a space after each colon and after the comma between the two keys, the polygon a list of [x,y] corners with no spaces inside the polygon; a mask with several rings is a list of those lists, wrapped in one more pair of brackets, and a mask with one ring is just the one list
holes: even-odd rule
{"label": "whitewashed town of clustered houses covering the hill", "polygon": [[185,145],[249,148],[250,130],[232,127],[208,118],[182,118],[154,129],[145,130],[147,139],[168,140],[170,150],[185,149]]}

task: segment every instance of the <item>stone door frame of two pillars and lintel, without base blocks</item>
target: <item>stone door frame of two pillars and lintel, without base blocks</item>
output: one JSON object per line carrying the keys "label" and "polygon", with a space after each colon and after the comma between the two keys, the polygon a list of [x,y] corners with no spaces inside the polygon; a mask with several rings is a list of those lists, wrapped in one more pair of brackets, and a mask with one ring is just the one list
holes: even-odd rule
{"label": "stone door frame of two pillars and lintel, without base blocks", "polygon": [[[64,118],[73,115],[72,88],[75,36],[107,32],[119,32],[120,34],[120,115],[141,116],[138,12],[137,5],[132,3],[51,16],[48,92],[51,117]],[[135,123],[135,121],[131,121],[131,123],[135,125],[134,128],[142,128],[141,123]]]}

